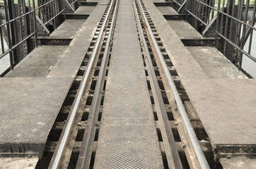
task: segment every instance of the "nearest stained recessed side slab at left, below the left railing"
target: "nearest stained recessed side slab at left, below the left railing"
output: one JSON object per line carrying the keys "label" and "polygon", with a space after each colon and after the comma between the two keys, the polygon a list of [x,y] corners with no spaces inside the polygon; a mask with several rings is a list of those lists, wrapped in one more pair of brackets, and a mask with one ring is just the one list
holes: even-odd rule
{"label": "nearest stained recessed side slab at left, below the left railing", "polygon": [[46,77],[65,49],[66,46],[38,46],[5,77]]}

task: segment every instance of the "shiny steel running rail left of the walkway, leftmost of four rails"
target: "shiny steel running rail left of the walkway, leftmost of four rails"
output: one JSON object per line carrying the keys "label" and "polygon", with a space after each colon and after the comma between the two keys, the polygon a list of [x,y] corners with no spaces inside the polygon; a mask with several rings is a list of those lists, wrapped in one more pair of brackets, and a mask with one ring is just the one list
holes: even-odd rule
{"label": "shiny steel running rail left of the walkway, leftmost of four rails", "polygon": [[79,86],[78,94],[76,94],[76,98],[74,100],[74,103],[72,104],[71,111],[70,111],[71,113],[69,114],[68,120],[66,120],[64,129],[62,131],[61,137],[59,138],[59,142],[57,144],[57,148],[54,151],[54,154],[52,156],[52,160],[51,160],[50,165],[48,167],[49,169],[57,169],[59,167],[60,161],[61,161],[63,153],[64,153],[64,149],[66,149],[66,144],[67,144],[67,141],[69,139],[71,129],[72,129],[72,126],[74,125],[74,121],[75,121],[75,118],[76,118],[76,112],[78,111],[81,100],[83,98],[83,93],[84,93],[86,84],[88,83],[88,77],[89,77],[89,75],[91,73],[91,70],[93,68],[93,63],[95,61],[95,56],[96,56],[96,53],[97,53],[98,48],[100,46],[100,42],[101,42],[101,39],[102,39],[102,36],[103,36],[103,32],[105,30],[105,25],[106,25],[107,20],[110,16],[110,11],[111,11],[112,5],[113,5],[113,1],[110,4],[110,8],[108,9],[107,14],[105,16],[105,20],[103,21],[103,25],[100,28],[100,32],[99,32],[98,38],[95,42],[95,47],[94,47],[93,52],[91,54],[91,58],[90,58],[90,61],[88,63],[88,66],[87,66],[86,73],[85,73],[85,75],[83,75],[83,80],[81,81],[81,84]]}

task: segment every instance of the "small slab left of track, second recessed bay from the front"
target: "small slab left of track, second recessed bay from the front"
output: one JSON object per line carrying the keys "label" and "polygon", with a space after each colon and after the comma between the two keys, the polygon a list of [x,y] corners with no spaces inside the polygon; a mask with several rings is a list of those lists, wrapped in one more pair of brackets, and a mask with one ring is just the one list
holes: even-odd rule
{"label": "small slab left of track, second recessed bay from the front", "polygon": [[85,23],[86,20],[65,20],[57,30],[51,33],[50,37],[58,37],[59,39],[72,39],[80,29],[80,27]]}

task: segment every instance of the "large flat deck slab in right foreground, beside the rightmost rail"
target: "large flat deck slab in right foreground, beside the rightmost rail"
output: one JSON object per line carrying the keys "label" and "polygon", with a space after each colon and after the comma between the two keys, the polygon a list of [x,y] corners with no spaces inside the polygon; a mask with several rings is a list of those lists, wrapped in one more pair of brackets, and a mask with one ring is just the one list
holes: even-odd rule
{"label": "large flat deck slab in right foreground, beside the rightmost rail", "polygon": [[184,80],[211,144],[256,144],[256,80]]}

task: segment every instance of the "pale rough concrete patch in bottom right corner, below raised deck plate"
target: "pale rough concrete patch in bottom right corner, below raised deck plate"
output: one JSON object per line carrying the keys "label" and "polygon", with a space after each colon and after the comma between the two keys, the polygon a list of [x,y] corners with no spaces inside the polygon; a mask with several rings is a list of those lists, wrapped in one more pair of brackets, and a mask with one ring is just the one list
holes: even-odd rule
{"label": "pale rough concrete patch in bottom right corner, below raised deck plate", "polygon": [[221,165],[223,169],[254,169],[256,167],[256,159],[246,158],[244,156],[234,157],[234,158],[221,158]]}

